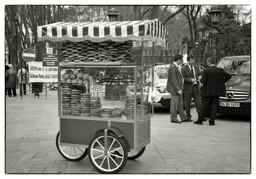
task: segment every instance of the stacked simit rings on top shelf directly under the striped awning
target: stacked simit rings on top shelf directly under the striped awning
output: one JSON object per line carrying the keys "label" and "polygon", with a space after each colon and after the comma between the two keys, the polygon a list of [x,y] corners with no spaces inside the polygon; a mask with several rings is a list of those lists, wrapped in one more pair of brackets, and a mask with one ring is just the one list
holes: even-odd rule
{"label": "stacked simit rings on top shelf directly under the striped awning", "polygon": [[133,41],[115,42],[106,40],[103,42],[63,42],[61,54],[65,62],[133,62]]}

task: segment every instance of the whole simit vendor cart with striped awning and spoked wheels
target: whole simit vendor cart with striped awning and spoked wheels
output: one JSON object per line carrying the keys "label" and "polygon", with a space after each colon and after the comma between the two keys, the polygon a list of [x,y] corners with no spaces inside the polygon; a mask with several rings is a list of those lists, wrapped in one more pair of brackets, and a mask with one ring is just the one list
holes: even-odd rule
{"label": "whole simit vendor cart with striped awning and spoked wheels", "polygon": [[[150,143],[154,85],[152,66],[143,65],[144,48],[166,48],[168,32],[158,19],[98,23],[55,23],[37,29],[38,41],[62,42],[58,66],[59,132],[63,158],[80,161],[87,154],[102,173],[117,173],[139,158]],[[141,65],[133,61],[139,48]],[[106,100],[115,87],[125,98]],[[116,90],[117,89],[117,90]],[[100,93],[99,93],[100,91]],[[120,95],[121,96],[121,95]]]}

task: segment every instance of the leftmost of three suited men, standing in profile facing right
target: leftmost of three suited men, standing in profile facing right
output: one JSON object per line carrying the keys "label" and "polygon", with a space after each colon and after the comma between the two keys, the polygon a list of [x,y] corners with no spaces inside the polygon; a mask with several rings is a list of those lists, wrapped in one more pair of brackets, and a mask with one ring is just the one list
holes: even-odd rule
{"label": "leftmost of three suited men, standing in profile facing right", "polygon": [[[166,91],[172,95],[170,101],[170,122],[189,122],[183,110],[182,89],[183,77],[179,65],[183,62],[181,55],[174,56],[174,62],[169,65]],[[177,119],[177,110],[181,121]]]}

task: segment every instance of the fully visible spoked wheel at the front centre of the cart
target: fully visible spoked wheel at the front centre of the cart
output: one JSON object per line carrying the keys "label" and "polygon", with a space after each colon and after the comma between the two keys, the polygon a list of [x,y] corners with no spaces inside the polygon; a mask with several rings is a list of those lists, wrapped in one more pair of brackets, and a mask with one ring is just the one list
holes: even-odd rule
{"label": "fully visible spoked wheel at the front centre of the cart", "polygon": [[[98,133],[89,145],[89,159],[91,164],[101,173],[117,173],[127,162],[127,148],[122,139],[109,132],[105,144],[104,132]],[[104,153],[106,147],[106,154]],[[119,156],[115,151],[124,153]]]}

